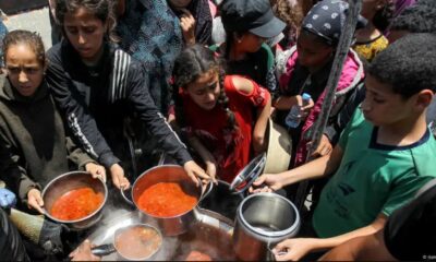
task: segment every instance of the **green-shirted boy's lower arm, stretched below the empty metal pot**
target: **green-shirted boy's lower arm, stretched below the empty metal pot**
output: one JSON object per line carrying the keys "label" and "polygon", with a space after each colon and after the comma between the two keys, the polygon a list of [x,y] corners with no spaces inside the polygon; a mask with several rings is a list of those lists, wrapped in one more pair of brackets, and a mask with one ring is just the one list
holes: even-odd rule
{"label": "green-shirted boy's lower arm, stretched below the empty metal pot", "polygon": [[276,246],[275,253],[279,253],[280,251],[286,251],[284,254],[276,255],[276,259],[278,261],[288,261],[288,260],[296,261],[310,252],[331,249],[350,239],[375,234],[378,230],[383,229],[387,218],[388,217],[385,216],[384,214],[379,214],[378,217],[372,224],[331,238],[287,239]]}

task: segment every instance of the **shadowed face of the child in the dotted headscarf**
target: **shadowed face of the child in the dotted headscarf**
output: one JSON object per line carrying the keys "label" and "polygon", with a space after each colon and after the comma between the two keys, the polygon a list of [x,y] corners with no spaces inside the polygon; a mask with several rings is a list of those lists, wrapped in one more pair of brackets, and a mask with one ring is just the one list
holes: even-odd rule
{"label": "shadowed face of the child in the dotted headscarf", "polygon": [[332,47],[315,40],[311,33],[302,33],[296,40],[299,62],[312,71],[322,68],[331,58]]}

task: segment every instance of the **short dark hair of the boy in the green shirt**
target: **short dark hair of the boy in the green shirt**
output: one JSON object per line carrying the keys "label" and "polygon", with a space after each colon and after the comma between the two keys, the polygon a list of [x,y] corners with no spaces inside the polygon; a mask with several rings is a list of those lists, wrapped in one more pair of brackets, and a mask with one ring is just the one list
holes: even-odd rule
{"label": "short dark hair of the boy in the green shirt", "polygon": [[404,98],[423,91],[436,91],[436,35],[410,34],[379,52],[368,74],[389,84]]}

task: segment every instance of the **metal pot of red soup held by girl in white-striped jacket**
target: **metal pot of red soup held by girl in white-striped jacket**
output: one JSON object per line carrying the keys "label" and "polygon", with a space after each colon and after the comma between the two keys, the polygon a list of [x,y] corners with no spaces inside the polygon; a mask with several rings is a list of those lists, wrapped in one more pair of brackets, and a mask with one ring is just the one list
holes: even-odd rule
{"label": "metal pot of red soup held by girl in white-striped jacket", "polygon": [[[207,192],[210,192],[211,183]],[[196,221],[195,209],[207,194],[181,166],[164,165],[142,174],[132,187],[132,200],[144,223],[165,236],[185,233]]]}

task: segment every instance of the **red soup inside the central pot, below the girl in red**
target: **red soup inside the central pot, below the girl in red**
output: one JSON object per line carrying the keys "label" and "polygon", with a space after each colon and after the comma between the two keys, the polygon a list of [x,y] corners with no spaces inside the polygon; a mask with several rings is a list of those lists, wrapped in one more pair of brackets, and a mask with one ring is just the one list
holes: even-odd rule
{"label": "red soup inside the central pot, below the girl in red", "polygon": [[197,204],[197,198],[183,191],[175,182],[159,182],[147,188],[137,204],[145,213],[157,217],[183,214]]}

